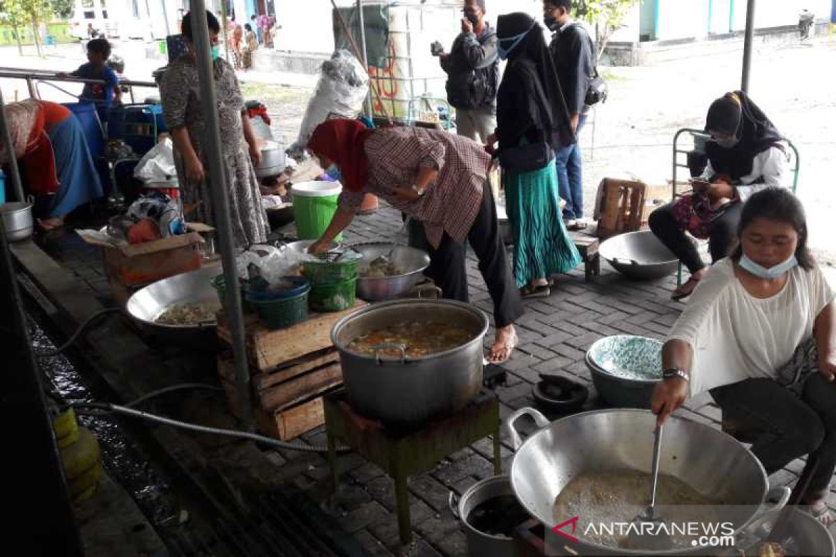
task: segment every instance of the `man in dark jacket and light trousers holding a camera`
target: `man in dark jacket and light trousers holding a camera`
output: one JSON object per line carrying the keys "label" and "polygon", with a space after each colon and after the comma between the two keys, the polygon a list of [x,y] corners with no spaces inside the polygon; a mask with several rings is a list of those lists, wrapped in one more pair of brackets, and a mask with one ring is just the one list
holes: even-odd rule
{"label": "man in dark jacket and light trousers holding a camera", "polygon": [[447,73],[447,100],[456,107],[458,133],[486,143],[497,127],[497,33],[485,21],[485,0],[466,0],[462,12],[461,34],[451,53],[437,46],[434,53]]}

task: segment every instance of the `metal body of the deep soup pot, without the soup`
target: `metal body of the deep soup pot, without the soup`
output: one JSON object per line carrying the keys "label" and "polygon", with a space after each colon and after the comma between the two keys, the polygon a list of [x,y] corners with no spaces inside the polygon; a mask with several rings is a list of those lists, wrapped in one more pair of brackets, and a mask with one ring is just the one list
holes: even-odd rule
{"label": "metal body of the deep soup pot, without the soup", "polygon": [[[473,333],[461,347],[427,357],[368,357],[349,352],[367,332],[403,322],[443,322]],[[352,408],[387,426],[410,427],[454,413],[482,387],[482,339],[487,316],[475,306],[450,300],[384,301],[354,311],[331,330]]]}

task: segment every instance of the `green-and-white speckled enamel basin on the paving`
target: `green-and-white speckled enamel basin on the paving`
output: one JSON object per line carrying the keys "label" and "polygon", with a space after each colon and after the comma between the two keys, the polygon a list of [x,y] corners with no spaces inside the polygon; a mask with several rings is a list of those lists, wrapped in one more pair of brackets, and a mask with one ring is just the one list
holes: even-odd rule
{"label": "green-and-white speckled enamel basin on the paving", "polygon": [[662,380],[662,343],[654,338],[614,335],[595,341],[584,358],[599,397],[611,406],[650,408]]}

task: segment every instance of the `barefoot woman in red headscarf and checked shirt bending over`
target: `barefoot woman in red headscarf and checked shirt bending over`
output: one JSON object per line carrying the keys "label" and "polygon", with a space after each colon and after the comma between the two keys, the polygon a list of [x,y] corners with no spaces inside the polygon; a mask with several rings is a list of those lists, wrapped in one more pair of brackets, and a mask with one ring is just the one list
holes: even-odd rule
{"label": "barefoot woman in red headscarf and checked shirt bending over", "polygon": [[424,224],[436,284],[444,297],[468,301],[468,241],[494,306],[497,336],[488,360],[507,361],[517,345],[513,322],[523,308],[502,245],[487,182],[490,157],[482,145],[441,130],[367,129],[356,120],[333,119],[314,129],[308,150],[324,169],[339,167],[343,184],[334,218],[309,251],[327,250],[351,224],[364,195],[375,194]]}

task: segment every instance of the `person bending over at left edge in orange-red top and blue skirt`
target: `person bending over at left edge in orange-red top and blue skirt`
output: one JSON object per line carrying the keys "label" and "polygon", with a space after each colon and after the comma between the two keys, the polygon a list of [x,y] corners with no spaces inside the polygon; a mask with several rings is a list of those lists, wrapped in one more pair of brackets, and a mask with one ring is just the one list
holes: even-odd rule
{"label": "person bending over at left edge in orange-red top and blue skirt", "polygon": [[[75,208],[104,195],[84,129],[69,109],[45,100],[10,103],[6,123],[24,187],[52,196],[48,217],[38,220],[43,230],[63,225]],[[6,163],[8,153],[0,144],[0,164]]]}

